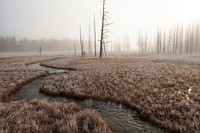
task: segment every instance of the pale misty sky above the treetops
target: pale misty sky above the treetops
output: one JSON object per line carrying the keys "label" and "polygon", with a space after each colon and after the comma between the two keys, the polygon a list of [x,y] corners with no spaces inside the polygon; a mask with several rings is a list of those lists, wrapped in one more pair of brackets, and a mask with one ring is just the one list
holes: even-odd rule
{"label": "pale misty sky above the treetops", "polygon": [[[169,27],[200,18],[199,0],[107,0],[111,40],[129,34],[135,43],[139,29],[153,33],[156,25]],[[101,0],[0,0],[0,36],[17,38],[78,38],[81,26],[88,36],[96,14],[100,31]],[[132,48],[135,46],[133,45]]]}

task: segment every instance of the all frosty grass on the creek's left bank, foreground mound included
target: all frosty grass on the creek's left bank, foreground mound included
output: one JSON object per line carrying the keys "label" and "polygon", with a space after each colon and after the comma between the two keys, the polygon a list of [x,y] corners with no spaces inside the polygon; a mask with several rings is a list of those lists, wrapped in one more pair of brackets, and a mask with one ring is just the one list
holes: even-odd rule
{"label": "all frosty grass on the creek's left bank, foreground mound included", "polygon": [[45,71],[29,69],[27,64],[52,58],[55,59],[0,58],[0,132],[111,133],[100,114],[74,103],[51,103],[45,100],[5,102],[22,85],[47,75]]}

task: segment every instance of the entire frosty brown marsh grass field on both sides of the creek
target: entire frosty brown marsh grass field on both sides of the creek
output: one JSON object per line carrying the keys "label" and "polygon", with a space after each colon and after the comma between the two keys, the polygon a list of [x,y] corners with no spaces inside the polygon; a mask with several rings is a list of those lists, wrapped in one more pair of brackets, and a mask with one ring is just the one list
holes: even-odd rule
{"label": "entire frosty brown marsh grass field on both sides of the creek", "polygon": [[12,92],[48,75],[27,67],[35,62],[73,70],[67,77],[47,77],[40,86],[42,93],[112,101],[136,110],[141,118],[168,132],[200,132],[199,55],[127,54],[103,59],[51,55],[0,60],[1,132],[113,132],[99,113],[75,103],[11,101]]}

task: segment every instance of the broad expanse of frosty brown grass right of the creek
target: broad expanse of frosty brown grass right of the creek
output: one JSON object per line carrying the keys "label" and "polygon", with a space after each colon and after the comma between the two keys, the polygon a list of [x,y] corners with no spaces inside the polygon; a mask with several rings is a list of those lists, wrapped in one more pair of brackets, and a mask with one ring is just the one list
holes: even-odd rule
{"label": "broad expanse of frosty brown grass right of the creek", "polygon": [[40,90],[50,95],[123,103],[171,131],[199,132],[199,56],[172,57],[45,62],[54,67],[75,68],[77,72],[68,78],[49,79]]}

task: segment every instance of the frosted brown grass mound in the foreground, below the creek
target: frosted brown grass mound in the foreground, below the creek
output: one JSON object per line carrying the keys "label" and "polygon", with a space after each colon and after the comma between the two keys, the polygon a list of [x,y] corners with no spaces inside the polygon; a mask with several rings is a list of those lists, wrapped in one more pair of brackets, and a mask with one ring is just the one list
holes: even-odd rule
{"label": "frosted brown grass mound in the foreground, below the creek", "polygon": [[93,110],[45,100],[0,103],[0,132],[111,133]]}

